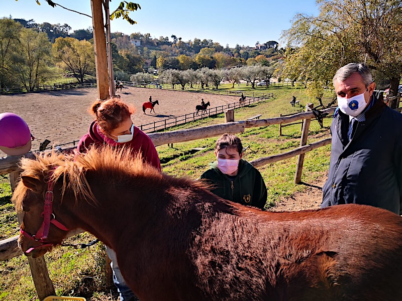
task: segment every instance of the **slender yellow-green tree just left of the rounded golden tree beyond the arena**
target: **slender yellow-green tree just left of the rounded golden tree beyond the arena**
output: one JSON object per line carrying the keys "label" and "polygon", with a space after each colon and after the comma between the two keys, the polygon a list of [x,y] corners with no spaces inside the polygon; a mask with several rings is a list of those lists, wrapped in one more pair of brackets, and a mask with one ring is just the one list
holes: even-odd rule
{"label": "slender yellow-green tree just left of the rounded golden tree beyond the arena", "polygon": [[27,91],[33,91],[49,75],[51,44],[45,33],[23,29],[20,36],[18,60],[15,70]]}

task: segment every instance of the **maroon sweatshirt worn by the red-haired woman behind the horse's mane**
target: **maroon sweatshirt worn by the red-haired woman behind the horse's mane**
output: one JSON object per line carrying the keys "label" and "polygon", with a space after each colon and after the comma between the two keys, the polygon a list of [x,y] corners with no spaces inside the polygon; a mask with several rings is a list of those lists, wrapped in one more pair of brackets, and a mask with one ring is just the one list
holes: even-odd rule
{"label": "maroon sweatshirt worn by the red-haired woman behind the horse's mane", "polygon": [[111,144],[116,147],[129,146],[133,156],[137,153],[141,153],[144,161],[153,167],[161,170],[159,156],[156,152],[155,145],[146,133],[140,130],[138,127],[134,126],[133,139],[125,143],[118,143],[115,140],[107,137],[102,131],[99,130],[99,125],[96,121],[93,121],[89,125],[88,133],[83,135],[78,142],[77,152],[86,153],[89,146],[94,145],[104,145]]}

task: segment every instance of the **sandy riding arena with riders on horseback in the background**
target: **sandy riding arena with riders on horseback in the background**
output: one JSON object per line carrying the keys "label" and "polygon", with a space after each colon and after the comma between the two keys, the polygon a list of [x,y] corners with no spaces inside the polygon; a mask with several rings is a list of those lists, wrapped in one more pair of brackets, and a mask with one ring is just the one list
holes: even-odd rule
{"label": "sandy riding arena with riders on horseback in the background", "polygon": [[[146,124],[165,118],[192,113],[195,106],[210,101],[211,107],[233,103],[239,97],[211,95],[162,89],[125,87],[118,92],[121,99],[133,104],[137,111],[132,116],[135,125]],[[155,105],[155,113],[144,115],[142,104],[159,100]],[[90,104],[96,99],[96,88],[63,90],[42,93],[26,93],[0,95],[2,112],[13,112],[20,115],[28,123],[32,134],[36,137],[32,150],[39,149],[44,139],[52,145],[78,140],[88,130],[92,116],[87,112]],[[0,154],[3,155],[3,154]]]}

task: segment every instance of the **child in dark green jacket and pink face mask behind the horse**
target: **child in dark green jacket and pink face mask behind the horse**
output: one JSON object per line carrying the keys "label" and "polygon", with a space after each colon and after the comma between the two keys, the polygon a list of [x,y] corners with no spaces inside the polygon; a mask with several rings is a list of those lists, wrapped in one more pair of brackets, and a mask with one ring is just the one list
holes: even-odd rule
{"label": "child in dark green jacket and pink face mask behind the horse", "polygon": [[241,159],[243,145],[236,135],[223,134],[215,144],[218,161],[201,175],[217,196],[263,209],[267,201],[267,189],[260,172]]}

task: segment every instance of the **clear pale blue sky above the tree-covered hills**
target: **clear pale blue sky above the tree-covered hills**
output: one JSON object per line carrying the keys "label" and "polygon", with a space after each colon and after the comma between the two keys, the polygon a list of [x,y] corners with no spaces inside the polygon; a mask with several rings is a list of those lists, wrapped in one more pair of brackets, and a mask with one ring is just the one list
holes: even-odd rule
{"label": "clear pale blue sky above the tree-covered hills", "polygon": [[[36,23],[67,23],[73,30],[91,26],[91,19],[60,7],[52,8],[44,0],[1,0],[0,17],[34,19]],[[53,0],[68,9],[91,15],[90,0]],[[150,33],[151,37],[175,35],[183,41],[212,39],[222,46],[236,44],[254,46],[257,41],[280,42],[281,32],[291,25],[297,13],[317,15],[315,0],[135,0],[141,10],[131,13],[137,21],[130,25],[125,20],[113,20],[112,32],[131,34]],[[111,11],[120,1],[113,0]]]}

